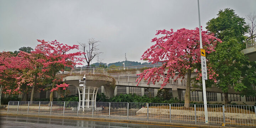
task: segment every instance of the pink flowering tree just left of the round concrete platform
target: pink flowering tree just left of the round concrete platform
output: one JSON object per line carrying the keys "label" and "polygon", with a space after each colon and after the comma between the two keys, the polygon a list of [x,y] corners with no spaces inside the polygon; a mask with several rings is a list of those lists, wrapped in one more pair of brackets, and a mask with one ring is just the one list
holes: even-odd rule
{"label": "pink flowering tree just left of the round concrete platform", "polygon": [[[58,71],[63,71],[65,66],[73,67],[76,64],[81,64],[84,58],[80,56],[84,53],[75,52],[70,53],[71,50],[79,49],[77,45],[68,46],[67,44],[62,44],[55,41],[44,41],[37,40],[41,44],[38,44],[34,49],[32,54],[40,54],[44,56],[44,59],[41,59],[42,72],[46,74],[46,79],[50,79],[52,81],[52,86],[50,86],[50,101],[53,101],[53,92],[59,90],[58,88],[62,88],[64,86],[56,85],[59,82],[59,78],[56,77]],[[67,87],[67,84],[64,84]]]}

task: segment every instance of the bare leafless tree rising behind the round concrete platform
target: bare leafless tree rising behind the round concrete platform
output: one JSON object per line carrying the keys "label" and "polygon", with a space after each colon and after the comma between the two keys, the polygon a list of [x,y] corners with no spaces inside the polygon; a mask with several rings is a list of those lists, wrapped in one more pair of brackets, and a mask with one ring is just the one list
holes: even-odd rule
{"label": "bare leafless tree rising behind the round concrete platform", "polygon": [[[86,58],[86,62],[87,62],[87,66],[90,66],[90,62],[91,60],[95,57],[95,56],[98,56],[100,55],[102,52],[98,52],[99,48],[99,44],[98,42],[100,41],[96,41],[94,38],[89,38],[88,39],[88,45],[89,45],[89,49],[87,48],[87,43],[80,43],[80,46],[81,46],[81,50],[86,53],[84,56]],[[87,49],[86,49],[87,48]]]}

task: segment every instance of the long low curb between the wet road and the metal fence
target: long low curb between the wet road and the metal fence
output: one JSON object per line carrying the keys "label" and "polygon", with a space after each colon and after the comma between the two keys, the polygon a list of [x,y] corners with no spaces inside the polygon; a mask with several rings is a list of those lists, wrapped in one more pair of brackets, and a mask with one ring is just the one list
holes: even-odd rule
{"label": "long low curb between the wet road and the metal fence", "polygon": [[184,126],[191,128],[234,128],[234,127],[223,127],[223,126],[209,126],[199,124],[182,124],[182,123],[168,123],[168,122],[155,122],[155,121],[135,121],[127,119],[109,119],[109,118],[95,118],[95,117],[76,117],[76,116],[49,116],[49,115],[33,115],[33,114],[14,114],[14,113],[0,113],[1,115],[10,116],[33,116],[33,117],[51,117],[51,118],[63,118],[63,119],[82,119],[92,121],[106,121],[106,122],[122,122],[122,123],[142,123],[142,124],[155,124],[165,126]]}

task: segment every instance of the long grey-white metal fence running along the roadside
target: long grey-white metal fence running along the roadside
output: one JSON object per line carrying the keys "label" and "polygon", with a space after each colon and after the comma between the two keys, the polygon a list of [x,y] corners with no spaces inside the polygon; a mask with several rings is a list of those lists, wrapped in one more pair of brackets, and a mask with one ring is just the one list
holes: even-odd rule
{"label": "long grey-white metal fence running along the roadside", "polygon": [[[208,123],[256,126],[255,106],[207,105]],[[203,104],[9,101],[7,113],[205,123]]]}

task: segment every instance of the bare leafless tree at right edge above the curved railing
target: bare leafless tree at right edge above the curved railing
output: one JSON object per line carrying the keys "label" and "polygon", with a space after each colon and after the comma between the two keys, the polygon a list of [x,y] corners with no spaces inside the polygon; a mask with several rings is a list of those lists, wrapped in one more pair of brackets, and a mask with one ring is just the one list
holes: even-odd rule
{"label": "bare leafless tree at right edge above the curved railing", "polygon": [[[249,15],[246,15],[246,18],[249,20],[249,22],[247,22],[247,25],[249,25],[249,35],[250,37],[251,36],[254,36],[256,34],[256,14],[255,12],[253,14],[249,14]],[[252,43],[255,42],[255,38],[252,37]]]}

